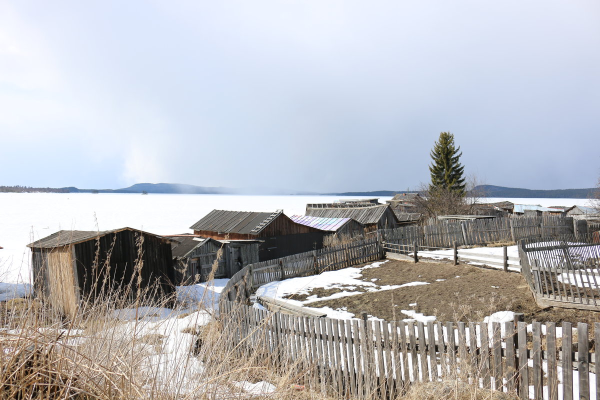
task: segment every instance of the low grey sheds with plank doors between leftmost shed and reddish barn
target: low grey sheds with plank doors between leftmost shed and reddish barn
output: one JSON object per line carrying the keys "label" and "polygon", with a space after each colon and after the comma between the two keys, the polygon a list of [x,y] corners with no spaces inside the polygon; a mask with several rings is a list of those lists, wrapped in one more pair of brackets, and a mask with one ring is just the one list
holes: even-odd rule
{"label": "low grey sheds with plank doors between leftmost shed and reddish barn", "polygon": [[194,234],[167,237],[178,240],[172,244],[175,282],[178,285],[205,282],[217,258],[214,278],[231,278],[242,267],[259,262],[260,240],[215,240]]}

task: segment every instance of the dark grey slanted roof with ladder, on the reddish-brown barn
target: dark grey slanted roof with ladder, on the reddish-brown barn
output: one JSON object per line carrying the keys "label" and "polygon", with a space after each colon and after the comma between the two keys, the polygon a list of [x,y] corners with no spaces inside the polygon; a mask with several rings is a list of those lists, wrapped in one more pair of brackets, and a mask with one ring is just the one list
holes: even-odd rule
{"label": "dark grey slanted roof with ladder, on the reddish-brown barn", "polygon": [[212,210],[196,224],[191,225],[190,229],[219,233],[257,234],[282,213],[283,210],[275,212]]}

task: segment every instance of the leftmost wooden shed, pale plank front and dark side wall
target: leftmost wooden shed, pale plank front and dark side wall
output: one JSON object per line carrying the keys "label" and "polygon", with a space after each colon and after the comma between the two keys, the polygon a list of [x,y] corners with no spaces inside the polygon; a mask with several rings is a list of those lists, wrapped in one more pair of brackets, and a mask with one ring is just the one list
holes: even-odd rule
{"label": "leftmost wooden shed, pale plank front and dark side wall", "polygon": [[71,317],[94,300],[166,299],[175,278],[171,242],[127,227],[58,231],[27,245],[35,293]]}

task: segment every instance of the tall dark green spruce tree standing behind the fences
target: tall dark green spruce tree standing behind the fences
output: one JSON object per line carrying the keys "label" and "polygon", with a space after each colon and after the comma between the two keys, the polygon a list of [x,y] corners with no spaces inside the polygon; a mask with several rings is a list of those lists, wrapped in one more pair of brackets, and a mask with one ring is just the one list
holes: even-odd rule
{"label": "tall dark green spruce tree standing behind the fences", "polygon": [[460,164],[460,146],[454,144],[454,135],[449,132],[440,133],[440,137],[430,152],[431,173],[430,191],[449,191],[460,196],[465,194],[463,178],[464,167]]}

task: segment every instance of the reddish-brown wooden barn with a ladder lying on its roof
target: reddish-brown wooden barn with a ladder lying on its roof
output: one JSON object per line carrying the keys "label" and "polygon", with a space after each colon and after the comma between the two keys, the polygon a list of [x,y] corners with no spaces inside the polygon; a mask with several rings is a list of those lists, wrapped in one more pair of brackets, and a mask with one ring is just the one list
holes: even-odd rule
{"label": "reddish-brown wooden barn with a ladder lying on its roof", "polygon": [[260,261],[320,249],[326,234],[296,224],[283,210],[272,213],[212,210],[190,229],[194,234],[217,240],[260,240]]}

